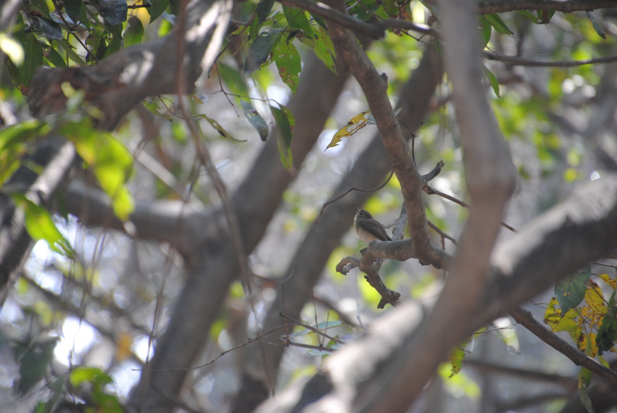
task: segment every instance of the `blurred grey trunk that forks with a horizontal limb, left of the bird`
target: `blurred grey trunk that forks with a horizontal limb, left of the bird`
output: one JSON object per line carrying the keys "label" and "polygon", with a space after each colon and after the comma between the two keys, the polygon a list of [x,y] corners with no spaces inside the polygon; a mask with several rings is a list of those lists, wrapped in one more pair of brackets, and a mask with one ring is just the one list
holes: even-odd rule
{"label": "blurred grey trunk that forks with a horizontal limb, left of the bird", "polygon": [[[315,85],[321,86],[320,93],[315,93]],[[317,141],[343,85],[344,78],[334,75],[317,59],[304,66],[298,90],[288,105],[296,117],[292,141],[296,169],[300,169]],[[281,165],[276,136],[272,136],[231,197],[247,254],[262,239],[284,190],[293,178],[294,175]],[[216,215],[212,217],[216,218]],[[203,225],[216,227],[220,224],[208,221]],[[223,306],[226,291],[238,277],[238,259],[225,225],[215,236],[194,239],[191,256],[194,260],[188,268],[187,283],[176,301],[167,330],[159,340],[149,367],[151,370],[173,371],[144,372],[139,390],[131,398],[133,406],[139,406],[143,400],[145,404],[141,406],[149,412],[172,411],[172,406],[165,405],[165,400],[176,398],[180,393],[188,373],[181,369],[195,364],[210,327]],[[257,351],[260,354],[259,349]]]}

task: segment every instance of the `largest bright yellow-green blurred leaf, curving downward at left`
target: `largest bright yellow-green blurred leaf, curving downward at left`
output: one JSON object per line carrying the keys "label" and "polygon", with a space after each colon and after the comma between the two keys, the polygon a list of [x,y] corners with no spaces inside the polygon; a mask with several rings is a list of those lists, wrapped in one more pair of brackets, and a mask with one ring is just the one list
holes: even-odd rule
{"label": "largest bright yellow-green blurred leaf, curving downward at left", "polygon": [[112,200],[115,215],[128,220],[135,209],[133,196],[125,185],[133,169],[131,152],[111,133],[94,130],[88,122],[67,123],[59,131],[92,167],[101,189]]}

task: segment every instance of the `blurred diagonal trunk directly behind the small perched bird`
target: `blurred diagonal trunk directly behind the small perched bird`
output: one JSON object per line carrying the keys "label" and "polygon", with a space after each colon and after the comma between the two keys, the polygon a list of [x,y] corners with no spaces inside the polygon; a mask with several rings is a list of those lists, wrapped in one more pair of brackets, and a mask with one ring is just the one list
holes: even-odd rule
{"label": "blurred diagonal trunk directly behind the small perched bird", "polygon": [[[442,81],[443,66],[439,53],[433,46],[424,50],[420,65],[403,86],[399,99],[402,109],[399,119],[407,125],[419,125],[423,122],[429,108],[431,96]],[[278,316],[285,312],[290,317],[299,317],[305,303],[312,297],[315,284],[321,277],[324,265],[328,262],[331,251],[341,242],[341,237],[349,230],[354,218],[355,206],[366,202],[371,193],[351,191],[349,188],[376,188],[383,183],[383,177],[391,171],[392,165],[379,134],[362,154],[355,160],[354,166],[333,191],[337,199],[326,207],[315,228],[299,246],[291,265],[284,273],[284,293],[278,288],[278,294],[264,321],[264,330],[271,330],[282,325]],[[347,193],[338,197],[338,194]],[[407,248],[410,251],[410,248]],[[254,349],[246,353],[243,363],[242,386],[236,396],[234,412],[253,411],[257,404],[266,399],[270,392],[272,379],[267,373],[275,375],[283,355],[282,346],[265,346],[265,359]],[[267,365],[264,365],[267,363]]]}

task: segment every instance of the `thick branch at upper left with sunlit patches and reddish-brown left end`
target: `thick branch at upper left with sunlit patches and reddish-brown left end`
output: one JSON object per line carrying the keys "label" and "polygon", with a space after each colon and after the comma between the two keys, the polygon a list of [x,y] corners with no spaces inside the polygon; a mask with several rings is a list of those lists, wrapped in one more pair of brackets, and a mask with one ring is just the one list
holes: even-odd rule
{"label": "thick branch at upper left with sunlit patches and reddish-brown left end", "polygon": [[99,127],[112,130],[147,96],[193,90],[220,48],[231,4],[193,0],[186,10],[186,24],[165,38],[123,49],[93,66],[39,69],[30,83],[30,111],[37,117],[62,111],[66,96],[60,86],[68,81],[102,110]]}

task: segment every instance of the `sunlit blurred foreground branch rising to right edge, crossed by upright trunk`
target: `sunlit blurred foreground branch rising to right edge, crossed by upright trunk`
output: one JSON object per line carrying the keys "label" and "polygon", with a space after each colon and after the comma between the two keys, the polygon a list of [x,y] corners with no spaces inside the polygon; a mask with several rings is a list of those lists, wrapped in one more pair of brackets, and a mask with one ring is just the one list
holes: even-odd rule
{"label": "sunlit blurred foreground branch rising to right edge, crossed by upright trunk", "polygon": [[[477,328],[513,311],[521,302],[568,277],[587,262],[617,248],[615,233],[617,176],[612,175],[582,186],[562,204],[540,215],[500,244],[492,260],[495,270],[491,282],[485,287],[484,298],[476,311],[465,319],[464,331],[452,328],[450,333],[455,332],[456,336],[449,339],[452,338],[454,343],[464,340]],[[422,312],[411,302],[401,304],[373,323],[373,331],[366,338],[348,344],[328,358],[320,370],[320,380],[330,383],[329,389],[311,389],[315,384],[309,382],[304,393],[317,394],[310,401],[296,405],[288,401],[285,407],[275,398],[270,404],[264,404],[260,411],[272,411],[273,406],[281,407],[282,412],[292,408],[299,411],[305,406],[302,403],[315,401],[318,404],[313,404],[313,408],[335,403],[334,406],[341,411],[370,411],[363,396],[373,393],[373,389],[383,391],[384,376],[397,377],[404,381],[406,388],[413,386],[414,380],[423,381],[418,377],[423,369],[413,369],[413,378],[408,378],[400,368],[395,368],[400,365],[409,368],[401,357],[405,356],[408,343],[423,332],[421,325],[426,321],[422,321]],[[427,343],[420,350],[421,356],[436,353],[436,344]],[[375,349],[384,347],[389,348],[388,354],[375,355]],[[371,357],[366,357],[366,354],[371,354]],[[386,375],[386,372],[390,373]],[[407,399],[405,406],[397,404],[395,409],[389,403],[381,407],[385,411],[405,411],[414,399]]]}

